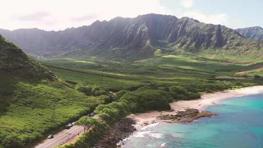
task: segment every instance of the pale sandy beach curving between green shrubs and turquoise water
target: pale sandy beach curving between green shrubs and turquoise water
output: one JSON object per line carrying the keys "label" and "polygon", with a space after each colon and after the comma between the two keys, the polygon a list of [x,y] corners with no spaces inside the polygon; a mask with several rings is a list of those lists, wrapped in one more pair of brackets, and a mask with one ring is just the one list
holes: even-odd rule
{"label": "pale sandy beach curving between green shrubs and turquoise water", "polygon": [[207,106],[217,105],[217,102],[220,100],[261,92],[263,92],[263,86],[252,86],[236,90],[225,90],[222,92],[207,93],[201,95],[200,99],[170,103],[171,109],[174,111],[151,111],[140,114],[131,114],[128,117],[136,121],[137,124],[135,125],[135,128],[139,130],[142,128],[141,125],[143,125],[145,122],[160,122],[158,119],[156,119],[156,117],[161,114],[174,115],[178,111],[185,111],[188,108],[204,111]]}

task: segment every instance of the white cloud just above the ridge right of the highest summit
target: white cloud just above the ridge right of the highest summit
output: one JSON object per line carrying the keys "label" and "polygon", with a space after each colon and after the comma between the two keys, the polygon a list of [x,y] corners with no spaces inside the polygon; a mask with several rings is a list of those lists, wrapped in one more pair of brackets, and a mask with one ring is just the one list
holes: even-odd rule
{"label": "white cloud just above the ridge right of the highest summit", "polygon": [[225,26],[229,25],[228,15],[226,15],[225,13],[205,15],[202,12],[198,12],[198,11],[186,11],[180,13],[179,17],[189,17],[189,18],[197,19],[201,22],[211,23],[211,24],[221,24]]}

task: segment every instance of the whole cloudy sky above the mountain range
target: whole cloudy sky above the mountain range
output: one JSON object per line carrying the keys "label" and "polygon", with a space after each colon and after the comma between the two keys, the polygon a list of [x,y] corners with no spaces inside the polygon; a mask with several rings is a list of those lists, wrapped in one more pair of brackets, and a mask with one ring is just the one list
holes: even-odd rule
{"label": "whole cloudy sky above the mountain range", "polygon": [[0,0],[0,28],[64,30],[149,13],[237,29],[263,27],[263,0]]}

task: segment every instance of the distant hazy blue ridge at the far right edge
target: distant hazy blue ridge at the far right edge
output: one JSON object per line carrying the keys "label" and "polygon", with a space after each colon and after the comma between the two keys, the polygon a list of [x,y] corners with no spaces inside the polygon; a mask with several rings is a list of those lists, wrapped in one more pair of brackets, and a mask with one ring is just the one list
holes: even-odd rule
{"label": "distant hazy blue ridge at the far right edge", "polygon": [[236,31],[246,38],[263,39],[263,28],[260,26],[240,28]]}

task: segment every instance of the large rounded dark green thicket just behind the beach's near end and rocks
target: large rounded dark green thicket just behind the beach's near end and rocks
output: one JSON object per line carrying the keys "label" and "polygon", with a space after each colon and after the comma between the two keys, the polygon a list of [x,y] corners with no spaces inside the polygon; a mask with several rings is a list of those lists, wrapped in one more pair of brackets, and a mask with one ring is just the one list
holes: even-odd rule
{"label": "large rounded dark green thicket just behind the beach's near end and rocks", "polygon": [[150,110],[170,110],[172,101],[168,92],[160,90],[138,89],[124,94],[120,101],[126,102],[133,113]]}

